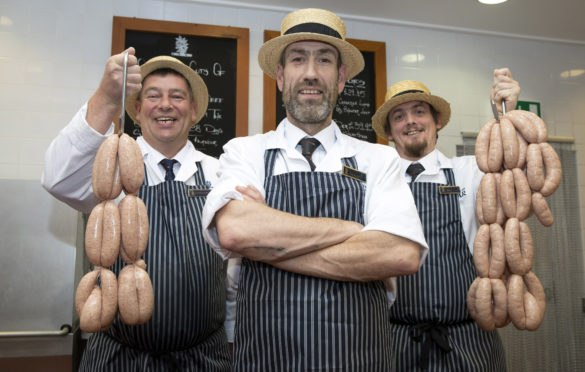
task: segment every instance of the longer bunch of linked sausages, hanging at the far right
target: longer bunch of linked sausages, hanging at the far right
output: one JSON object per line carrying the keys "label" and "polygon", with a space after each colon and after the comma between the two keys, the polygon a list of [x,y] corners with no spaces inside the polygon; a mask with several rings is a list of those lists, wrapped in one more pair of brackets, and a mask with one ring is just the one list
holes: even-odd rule
{"label": "longer bunch of linked sausages, hanging at the far right", "polygon": [[534,243],[524,220],[534,213],[544,226],[554,222],[545,197],[560,185],[562,171],[547,137],[544,121],[522,110],[489,121],[477,136],[476,161],[485,174],[476,198],[478,278],[467,293],[467,308],[486,331],[510,322],[534,331],[544,319],[544,289],[532,272]]}

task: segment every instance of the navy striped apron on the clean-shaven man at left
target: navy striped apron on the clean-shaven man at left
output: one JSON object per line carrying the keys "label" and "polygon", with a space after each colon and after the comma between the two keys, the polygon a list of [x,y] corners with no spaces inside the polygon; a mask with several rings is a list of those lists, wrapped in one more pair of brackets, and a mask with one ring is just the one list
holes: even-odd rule
{"label": "navy striped apron on the clean-shaven man at left", "polygon": [[[197,169],[195,186],[149,186],[144,177],[138,196],[150,223],[143,258],[154,290],[152,318],[128,326],[117,316],[110,329],[89,338],[81,370],[229,371],[227,261],[203,240],[201,211],[209,189],[200,163]],[[112,270],[118,275],[124,265],[118,258]]]}

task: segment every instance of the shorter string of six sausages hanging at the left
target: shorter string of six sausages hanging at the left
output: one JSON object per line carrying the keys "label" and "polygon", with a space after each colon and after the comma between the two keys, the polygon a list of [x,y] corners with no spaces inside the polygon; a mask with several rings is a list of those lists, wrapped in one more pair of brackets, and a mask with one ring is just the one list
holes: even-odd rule
{"label": "shorter string of six sausages hanging at the left", "polygon": [[[108,329],[119,312],[128,325],[147,322],[154,309],[152,282],[140,257],[148,240],[148,216],[136,196],[144,180],[140,147],[127,134],[110,135],[98,149],[92,171],[99,203],[85,231],[85,251],[94,270],[81,278],[75,293],[80,328],[95,333]],[[122,189],[124,198],[116,205]],[[118,279],[108,269],[118,255],[127,263]]]}

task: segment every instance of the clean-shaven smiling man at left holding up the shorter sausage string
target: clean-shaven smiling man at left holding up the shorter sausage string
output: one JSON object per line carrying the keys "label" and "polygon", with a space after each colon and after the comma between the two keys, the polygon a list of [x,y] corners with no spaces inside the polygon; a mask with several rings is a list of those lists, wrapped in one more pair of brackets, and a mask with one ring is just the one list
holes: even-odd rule
{"label": "clean-shaven smiling man at left holding up the shorter sausage string", "polygon": [[[217,159],[195,149],[189,129],[205,115],[207,87],[181,61],[154,57],[138,66],[127,50],[130,117],[144,160],[138,196],[149,219],[146,270],[154,311],[145,324],[128,326],[117,317],[109,329],[90,336],[82,371],[229,371],[223,327],[226,263],[202,237],[199,221],[206,192],[216,182]],[[99,88],[59,133],[46,155],[43,186],[73,208],[89,213],[96,152],[113,133],[122,106],[123,54],[110,57]],[[194,196],[194,197],[192,197]],[[118,258],[116,274],[124,266]]]}

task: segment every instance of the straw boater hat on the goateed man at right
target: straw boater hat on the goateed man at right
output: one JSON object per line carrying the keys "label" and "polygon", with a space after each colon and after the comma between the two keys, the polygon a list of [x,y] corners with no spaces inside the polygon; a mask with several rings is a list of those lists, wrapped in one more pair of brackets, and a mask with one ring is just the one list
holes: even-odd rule
{"label": "straw boater hat on the goateed man at right", "polygon": [[445,128],[445,125],[451,118],[451,106],[439,96],[434,96],[423,83],[416,80],[404,80],[392,85],[386,92],[385,102],[372,117],[372,127],[376,134],[384,139],[388,139],[388,114],[398,105],[410,101],[423,101],[433,106],[439,113],[439,130]]}

